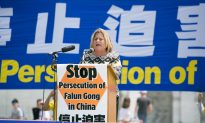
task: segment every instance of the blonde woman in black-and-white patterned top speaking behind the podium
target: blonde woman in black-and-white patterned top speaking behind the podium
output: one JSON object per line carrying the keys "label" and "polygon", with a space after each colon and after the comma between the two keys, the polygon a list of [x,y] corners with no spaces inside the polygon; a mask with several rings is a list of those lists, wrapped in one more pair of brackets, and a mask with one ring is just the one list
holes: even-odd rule
{"label": "blonde woman in black-and-white patterned top speaking behind the podium", "polygon": [[84,51],[81,64],[108,64],[113,67],[115,74],[121,74],[119,54],[113,51],[113,46],[108,33],[99,28],[91,37],[90,50]]}

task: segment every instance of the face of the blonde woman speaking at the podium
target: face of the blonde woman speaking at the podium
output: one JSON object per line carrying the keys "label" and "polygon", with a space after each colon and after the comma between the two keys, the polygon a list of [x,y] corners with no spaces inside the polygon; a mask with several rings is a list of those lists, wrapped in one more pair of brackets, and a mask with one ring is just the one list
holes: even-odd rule
{"label": "face of the blonde woman speaking at the podium", "polygon": [[93,48],[95,51],[106,52],[105,38],[102,33],[96,33],[93,39]]}

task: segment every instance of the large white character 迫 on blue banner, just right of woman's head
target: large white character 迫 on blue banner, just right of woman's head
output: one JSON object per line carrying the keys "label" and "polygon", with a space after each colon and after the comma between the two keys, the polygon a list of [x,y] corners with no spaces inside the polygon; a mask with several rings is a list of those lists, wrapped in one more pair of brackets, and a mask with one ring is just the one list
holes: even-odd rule
{"label": "large white character \u8feb on blue banner, just right of woman's head", "polygon": [[153,56],[156,11],[144,11],[144,6],[138,5],[124,11],[112,5],[107,13],[110,16],[104,26],[109,28],[108,32],[121,56]]}

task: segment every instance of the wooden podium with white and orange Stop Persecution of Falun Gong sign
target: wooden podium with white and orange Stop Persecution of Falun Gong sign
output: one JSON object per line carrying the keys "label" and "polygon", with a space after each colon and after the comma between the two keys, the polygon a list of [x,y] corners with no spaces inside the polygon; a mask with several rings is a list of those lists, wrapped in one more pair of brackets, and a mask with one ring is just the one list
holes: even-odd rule
{"label": "wooden podium with white and orange Stop Persecution of Falun Gong sign", "polygon": [[118,78],[111,66],[58,64],[57,78],[58,121],[116,122]]}

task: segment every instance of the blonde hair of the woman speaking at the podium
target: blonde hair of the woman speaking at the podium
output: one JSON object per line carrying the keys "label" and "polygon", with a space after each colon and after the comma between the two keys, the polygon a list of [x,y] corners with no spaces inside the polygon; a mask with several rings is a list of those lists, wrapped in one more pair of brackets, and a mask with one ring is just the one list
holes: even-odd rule
{"label": "blonde hair of the woman speaking at the podium", "polygon": [[94,41],[94,38],[95,38],[95,35],[97,33],[101,33],[105,39],[105,47],[106,47],[106,52],[111,52],[112,51],[112,41],[110,39],[110,36],[109,34],[104,30],[104,29],[101,29],[101,28],[98,28],[97,30],[95,30],[95,32],[92,34],[91,36],[91,41],[90,41],[90,48],[93,48],[93,41]]}

